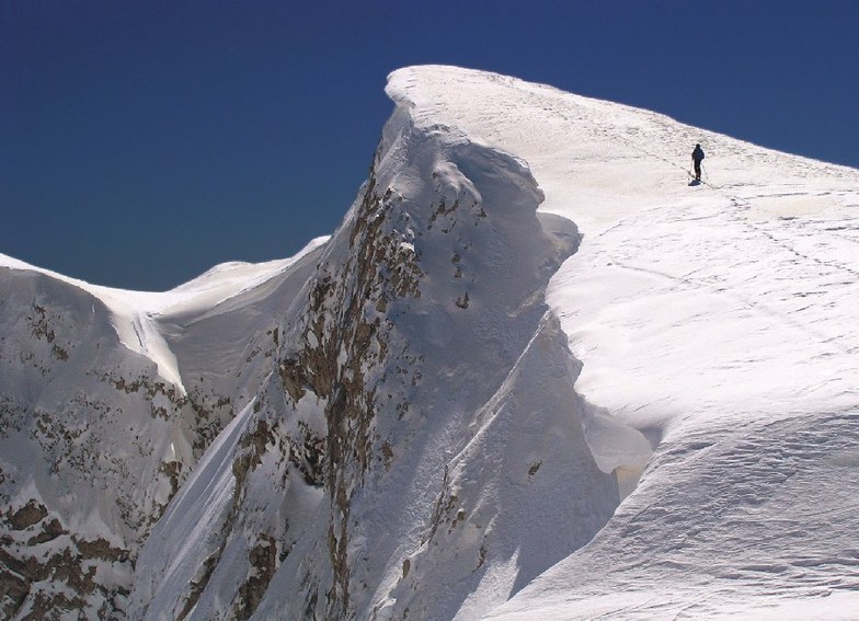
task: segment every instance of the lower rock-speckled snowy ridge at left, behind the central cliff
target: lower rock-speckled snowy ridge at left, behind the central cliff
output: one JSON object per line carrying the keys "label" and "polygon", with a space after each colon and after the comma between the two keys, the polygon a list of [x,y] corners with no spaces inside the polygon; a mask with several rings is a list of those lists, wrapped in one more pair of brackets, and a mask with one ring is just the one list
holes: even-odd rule
{"label": "lower rock-speckled snowy ridge at left, behind the central cliff", "polygon": [[271,309],[303,285],[320,243],[165,294],[0,256],[4,618],[122,614],[142,541],[259,390],[278,337]]}

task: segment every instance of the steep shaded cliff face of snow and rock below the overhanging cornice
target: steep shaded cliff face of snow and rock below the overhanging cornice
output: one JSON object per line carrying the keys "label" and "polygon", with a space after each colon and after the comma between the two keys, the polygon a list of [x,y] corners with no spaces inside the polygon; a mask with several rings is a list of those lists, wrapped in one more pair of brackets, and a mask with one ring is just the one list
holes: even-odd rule
{"label": "steep shaded cliff face of snow and rock below the overhanging cornice", "polygon": [[[205,496],[195,475],[176,496],[141,554],[131,616],[474,618],[617,505],[545,302],[575,227],[541,222],[522,162],[416,124],[405,94],[284,315],[278,372],[218,459],[231,493],[218,484],[186,509],[185,494]],[[213,509],[217,534],[165,543],[173,524],[214,524]]]}

